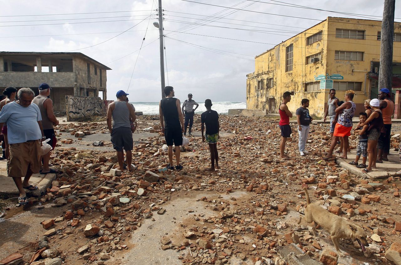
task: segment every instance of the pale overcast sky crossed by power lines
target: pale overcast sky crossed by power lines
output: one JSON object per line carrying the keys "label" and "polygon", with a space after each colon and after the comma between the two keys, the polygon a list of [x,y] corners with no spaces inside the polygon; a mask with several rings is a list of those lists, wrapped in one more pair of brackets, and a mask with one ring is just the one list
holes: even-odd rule
{"label": "pale overcast sky crossed by power lines", "polygon": [[[317,24],[319,20],[326,19],[327,16],[361,18],[296,8],[294,4],[336,12],[352,12],[372,19],[381,19],[377,16],[383,14],[383,0],[193,1],[284,16],[227,9],[183,0],[163,0],[168,70],[166,85],[172,85],[176,97],[181,100],[184,100],[188,93],[192,93],[194,99],[198,101],[210,98],[212,101],[245,102],[246,74],[254,71],[254,56],[274,46],[265,43],[278,44],[297,32]],[[77,52],[88,55],[113,69],[107,71],[108,99],[115,99],[117,90],[128,89],[134,64],[138,58],[128,89],[128,93],[131,94],[130,101],[158,101],[161,97],[159,32],[152,25],[157,21],[154,15],[157,8],[156,2],[158,0],[0,0],[0,16],[2,16],[0,18],[2,21],[0,50],[66,52],[80,49]],[[400,2],[396,2],[396,18],[401,18]],[[76,14],[92,12],[99,13]],[[150,19],[146,19],[150,14],[152,14]],[[125,21],[79,23],[110,20]],[[401,19],[395,20],[401,21]],[[194,26],[190,23],[208,24],[208,26]],[[138,25],[134,26],[136,24]],[[134,27],[131,28],[132,26]],[[131,28],[129,31],[112,38],[129,28]],[[148,28],[147,32],[146,28]],[[172,32],[177,30],[186,31],[186,33]],[[132,52],[140,49],[145,32],[146,39],[138,57],[138,51]],[[109,38],[112,39],[108,40]],[[230,38],[253,42],[230,40]],[[104,43],[99,44],[101,42]],[[89,47],[92,45],[96,46]],[[147,46],[144,47],[145,45]],[[89,48],[81,49],[85,47]],[[130,53],[132,54],[128,55]],[[119,59],[121,57],[124,58]],[[116,59],[119,60],[115,61]]]}

